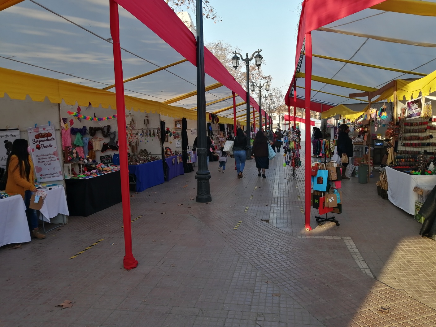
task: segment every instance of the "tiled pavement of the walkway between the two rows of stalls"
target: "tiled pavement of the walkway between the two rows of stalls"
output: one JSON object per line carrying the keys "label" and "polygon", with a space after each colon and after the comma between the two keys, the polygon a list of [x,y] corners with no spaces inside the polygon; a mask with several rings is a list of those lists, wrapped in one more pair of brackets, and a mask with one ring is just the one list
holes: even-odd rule
{"label": "tiled pavement of the walkway between the two rows of stalls", "polygon": [[[436,244],[374,183],[344,181],[341,226],[306,232],[304,182],[286,179],[283,157],[266,179],[250,160],[238,180],[232,164],[225,174],[210,164],[209,204],[190,200],[194,173],[132,194],[133,218],[142,217],[131,271],[121,205],[1,248],[0,327],[436,326]],[[66,299],[72,308],[54,307]]]}

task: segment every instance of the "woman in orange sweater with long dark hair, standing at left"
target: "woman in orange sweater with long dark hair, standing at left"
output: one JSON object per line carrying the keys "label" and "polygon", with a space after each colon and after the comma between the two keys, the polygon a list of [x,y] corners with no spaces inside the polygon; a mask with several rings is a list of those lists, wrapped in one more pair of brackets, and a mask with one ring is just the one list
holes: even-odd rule
{"label": "woman in orange sweater with long dark hair, standing at left", "polygon": [[29,208],[32,193],[36,192],[35,175],[30,154],[27,152],[27,140],[17,139],[6,162],[6,192],[20,194],[26,204],[27,223],[34,238],[45,238],[39,232],[38,216],[35,209]]}

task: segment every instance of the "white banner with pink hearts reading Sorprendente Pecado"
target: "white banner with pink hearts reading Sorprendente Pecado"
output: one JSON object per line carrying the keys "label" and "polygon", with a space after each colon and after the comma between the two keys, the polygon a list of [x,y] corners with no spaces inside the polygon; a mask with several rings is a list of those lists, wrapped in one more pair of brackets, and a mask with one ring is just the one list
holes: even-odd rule
{"label": "white banner with pink hearts reading Sorprendente Pecado", "polygon": [[32,160],[38,182],[63,179],[54,125],[27,128]]}

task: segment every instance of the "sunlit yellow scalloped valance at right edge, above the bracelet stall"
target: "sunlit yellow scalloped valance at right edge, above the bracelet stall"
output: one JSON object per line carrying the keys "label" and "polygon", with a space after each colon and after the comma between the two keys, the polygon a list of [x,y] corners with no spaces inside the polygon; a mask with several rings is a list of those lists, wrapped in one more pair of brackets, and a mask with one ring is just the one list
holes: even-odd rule
{"label": "sunlit yellow scalloped valance at right edge, above the bracelet stall", "polygon": [[[402,100],[404,97],[406,100],[414,99],[419,96],[419,92],[423,96],[429,95],[431,92],[436,91],[436,71],[433,73],[419,78],[416,81],[405,81],[403,79],[397,79],[397,98]],[[375,102],[387,100],[391,102],[394,100],[394,88],[387,89],[383,92]]]}

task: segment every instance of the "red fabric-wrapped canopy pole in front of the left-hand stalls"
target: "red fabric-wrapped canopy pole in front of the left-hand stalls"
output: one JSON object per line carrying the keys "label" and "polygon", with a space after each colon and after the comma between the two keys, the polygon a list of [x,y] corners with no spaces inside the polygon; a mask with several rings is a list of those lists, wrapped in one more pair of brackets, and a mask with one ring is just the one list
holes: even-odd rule
{"label": "red fabric-wrapped canopy pole in front of the left-hand stalls", "polygon": [[127,162],[126,139],[126,109],[124,104],[123,65],[121,62],[121,48],[119,44],[119,17],[118,4],[109,0],[110,34],[113,41],[113,66],[115,72],[116,118],[118,126],[119,167],[121,174],[121,199],[123,202],[124,224],[124,268],[133,269],[138,261],[132,253],[132,226],[130,225],[130,193],[129,193],[129,167]]}

